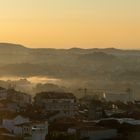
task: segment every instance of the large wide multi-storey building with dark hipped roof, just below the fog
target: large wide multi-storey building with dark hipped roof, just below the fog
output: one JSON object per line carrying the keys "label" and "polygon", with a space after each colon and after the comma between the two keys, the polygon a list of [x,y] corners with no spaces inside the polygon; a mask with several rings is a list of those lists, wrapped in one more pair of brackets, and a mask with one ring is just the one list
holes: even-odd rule
{"label": "large wide multi-storey building with dark hipped roof, just below the fog", "polygon": [[72,93],[41,92],[36,94],[34,103],[48,112],[60,111],[72,116],[76,111],[76,98]]}

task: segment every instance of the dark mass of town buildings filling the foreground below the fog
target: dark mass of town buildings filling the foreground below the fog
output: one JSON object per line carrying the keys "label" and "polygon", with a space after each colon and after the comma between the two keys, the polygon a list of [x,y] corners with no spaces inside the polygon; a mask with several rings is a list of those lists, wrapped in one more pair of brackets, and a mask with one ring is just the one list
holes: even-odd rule
{"label": "dark mass of town buildings filling the foreground below the fog", "polygon": [[0,140],[137,140],[140,104],[128,101],[0,87]]}

